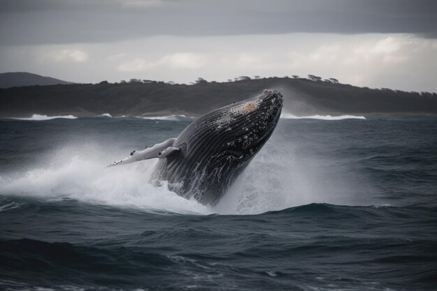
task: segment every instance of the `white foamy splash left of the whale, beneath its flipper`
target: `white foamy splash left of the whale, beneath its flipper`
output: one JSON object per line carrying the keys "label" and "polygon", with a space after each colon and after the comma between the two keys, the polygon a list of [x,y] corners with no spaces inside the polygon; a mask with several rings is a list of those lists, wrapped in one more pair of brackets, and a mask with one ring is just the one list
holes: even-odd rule
{"label": "white foamy splash left of the whale, beneath its flipper", "polygon": [[[45,199],[71,198],[93,204],[133,207],[145,211],[184,214],[210,214],[208,207],[186,200],[163,186],[149,184],[155,160],[108,167],[108,159],[93,160],[93,155],[68,156],[63,149],[46,165],[22,173],[0,176],[1,195],[19,195]],[[96,155],[98,156],[98,155]],[[59,162],[61,161],[61,162]]]}

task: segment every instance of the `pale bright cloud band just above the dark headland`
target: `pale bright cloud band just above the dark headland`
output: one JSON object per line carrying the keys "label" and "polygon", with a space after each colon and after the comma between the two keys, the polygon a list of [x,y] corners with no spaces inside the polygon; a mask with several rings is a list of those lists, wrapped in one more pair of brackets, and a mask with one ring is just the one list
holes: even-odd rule
{"label": "pale bright cloud band just above the dark headland", "polygon": [[437,91],[436,56],[436,39],[399,33],[154,36],[117,43],[6,46],[0,50],[0,68],[85,83],[314,74],[359,86]]}

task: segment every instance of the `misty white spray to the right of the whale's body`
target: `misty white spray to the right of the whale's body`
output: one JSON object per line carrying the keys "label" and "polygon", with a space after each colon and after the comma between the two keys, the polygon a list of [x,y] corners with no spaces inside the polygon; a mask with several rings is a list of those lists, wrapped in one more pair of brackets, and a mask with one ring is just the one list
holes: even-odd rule
{"label": "misty white spray to the right of the whale's body", "polygon": [[[260,214],[311,203],[368,205],[366,177],[313,157],[279,124],[260,153],[214,207],[219,214]],[[346,173],[346,174],[345,174]]]}

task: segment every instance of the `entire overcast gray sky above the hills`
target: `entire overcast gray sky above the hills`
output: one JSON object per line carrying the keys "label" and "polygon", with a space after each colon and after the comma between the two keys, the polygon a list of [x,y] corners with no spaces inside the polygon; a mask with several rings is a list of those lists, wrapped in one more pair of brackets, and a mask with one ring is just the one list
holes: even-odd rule
{"label": "entire overcast gray sky above the hills", "polygon": [[0,70],[71,82],[308,74],[437,91],[435,0],[0,0]]}

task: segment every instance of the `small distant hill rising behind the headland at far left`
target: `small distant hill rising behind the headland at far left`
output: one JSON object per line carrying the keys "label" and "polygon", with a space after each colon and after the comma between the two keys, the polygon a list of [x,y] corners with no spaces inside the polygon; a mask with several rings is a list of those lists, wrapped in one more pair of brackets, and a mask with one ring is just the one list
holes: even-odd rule
{"label": "small distant hill rising behind the headland at far left", "polygon": [[52,77],[43,77],[32,73],[15,72],[0,73],[0,88],[34,86],[34,85],[56,85],[71,84],[70,82],[54,79]]}

